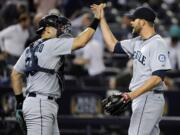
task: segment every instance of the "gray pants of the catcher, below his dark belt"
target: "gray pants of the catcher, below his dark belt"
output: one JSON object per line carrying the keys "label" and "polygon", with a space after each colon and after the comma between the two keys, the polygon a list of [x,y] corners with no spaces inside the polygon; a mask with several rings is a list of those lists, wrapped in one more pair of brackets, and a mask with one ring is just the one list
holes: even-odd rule
{"label": "gray pants of the catcher, below his dark belt", "polygon": [[26,97],[23,115],[27,135],[60,135],[57,122],[58,105],[47,96]]}

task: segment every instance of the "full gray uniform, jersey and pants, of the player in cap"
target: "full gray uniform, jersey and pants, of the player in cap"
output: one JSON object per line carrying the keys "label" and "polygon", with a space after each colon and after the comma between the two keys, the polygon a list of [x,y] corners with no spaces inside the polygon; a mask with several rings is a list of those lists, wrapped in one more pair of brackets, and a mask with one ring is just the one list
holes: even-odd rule
{"label": "full gray uniform, jersey and pants, of the player in cap", "polygon": [[[126,53],[133,58],[131,91],[142,86],[152,75],[160,75],[171,69],[168,50],[160,35],[143,40],[136,37],[123,40],[115,46],[114,52]],[[153,90],[163,90],[163,81]],[[159,121],[164,107],[162,93],[148,91],[132,102],[132,116],[128,135],[159,135]]]}

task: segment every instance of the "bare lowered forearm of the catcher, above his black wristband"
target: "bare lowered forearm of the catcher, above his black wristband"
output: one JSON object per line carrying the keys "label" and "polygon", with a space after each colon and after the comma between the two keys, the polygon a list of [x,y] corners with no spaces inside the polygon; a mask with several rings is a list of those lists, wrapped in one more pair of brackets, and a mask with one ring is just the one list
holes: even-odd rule
{"label": "bare lowered forearm of the catcher, above his black wristband", "polygon": [[22,87],[23,87],[22,76],[23,74],[18,73],[15,70],[13,70],[11,73],[12,88],[15,95],[20,95],[22,93]]}

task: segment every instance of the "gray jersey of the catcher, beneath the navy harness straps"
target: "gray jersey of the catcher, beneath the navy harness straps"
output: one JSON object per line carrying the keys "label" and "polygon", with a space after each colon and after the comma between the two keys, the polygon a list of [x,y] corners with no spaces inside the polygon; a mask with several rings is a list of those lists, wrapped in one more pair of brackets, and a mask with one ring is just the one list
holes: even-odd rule
{"label": "gray jersey of the catcher, beneath the navy harness straps", "polygon": [[[42,39],[35,42],[36,46]],[[71,53],[73,38],[54,38],[44,41],[37,48],[35,55],[38,57],[38,65],[43,68],[55,69],[58,65],[60,55]],[[14,69],[20,73],[25,73],[25,59],[31,55],[30,48],[26,48]],[[59,83],[56,74],[37,72],[35,75],[27,77],[26,92],[36,92],[47,96],[60,97]]]}

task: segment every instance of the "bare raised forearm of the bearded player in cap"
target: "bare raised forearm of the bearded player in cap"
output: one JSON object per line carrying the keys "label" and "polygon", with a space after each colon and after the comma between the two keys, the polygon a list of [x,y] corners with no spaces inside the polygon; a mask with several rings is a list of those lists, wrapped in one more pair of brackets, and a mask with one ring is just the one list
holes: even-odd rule
{"label": "bare raised forearm of the bearded player in cap", "polygon": [[114,37],[113,33],[111,32],[105,18],[101,19],[100,26],[101,26],[104,41],[105,41],[109,51],[113,52],[114,51],[114,46],[118,41]]}

